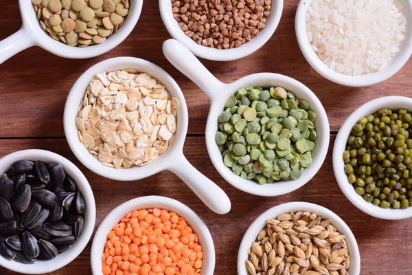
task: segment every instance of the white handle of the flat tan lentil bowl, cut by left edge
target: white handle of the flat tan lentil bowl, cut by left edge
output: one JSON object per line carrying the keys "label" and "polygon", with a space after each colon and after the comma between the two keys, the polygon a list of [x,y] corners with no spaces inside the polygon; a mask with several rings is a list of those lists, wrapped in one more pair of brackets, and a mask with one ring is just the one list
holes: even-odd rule
{"label": "white handle of the flat tan lentil bowl, cut by left edge", "polygon": [[18,32],[0,41],[0,64],[14,56],[14,54],[32,46],[34,46],[32,37],[27,35],[26,31],[21,28]]}

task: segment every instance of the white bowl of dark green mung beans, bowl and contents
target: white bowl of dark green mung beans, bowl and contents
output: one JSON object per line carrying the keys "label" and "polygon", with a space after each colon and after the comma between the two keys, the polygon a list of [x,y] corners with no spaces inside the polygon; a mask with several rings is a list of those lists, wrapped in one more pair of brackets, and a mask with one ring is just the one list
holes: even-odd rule
{"label": "white bowl of dark green mung beans, bowl and contents", "polygon": [[334,143],[336,181],[357,208],[380,219],[412,217],[412,99],[371,100]]}

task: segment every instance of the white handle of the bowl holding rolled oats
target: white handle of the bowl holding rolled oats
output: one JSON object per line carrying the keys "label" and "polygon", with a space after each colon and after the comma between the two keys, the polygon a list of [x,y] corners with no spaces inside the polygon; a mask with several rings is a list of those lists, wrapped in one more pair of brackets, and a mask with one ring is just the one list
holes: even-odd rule
{"label": "white handle of the bowl holding rolled oats", "polygon": [[168,168],[209,207],[218,214],[226,214],[230,211],[231,203],[226,193],[217,186],[213,181],[205,177],[196,168],[187,161],[186,157],[181,153],[180,157],[175,158],[174,162]]}

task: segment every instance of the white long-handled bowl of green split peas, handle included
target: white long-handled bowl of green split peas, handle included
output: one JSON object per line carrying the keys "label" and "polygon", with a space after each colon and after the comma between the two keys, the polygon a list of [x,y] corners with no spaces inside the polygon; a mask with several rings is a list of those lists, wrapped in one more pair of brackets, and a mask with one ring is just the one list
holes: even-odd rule
{"label": "white long-handled bowl of green split peas, handle included", "polygon": [[284,195],[321,168],[329,145],[328,117],[308,87],[269,73],[225,84],[178,41],[165,41],[163,53],[209,96],[207,151],[231,185],[254,195]]}

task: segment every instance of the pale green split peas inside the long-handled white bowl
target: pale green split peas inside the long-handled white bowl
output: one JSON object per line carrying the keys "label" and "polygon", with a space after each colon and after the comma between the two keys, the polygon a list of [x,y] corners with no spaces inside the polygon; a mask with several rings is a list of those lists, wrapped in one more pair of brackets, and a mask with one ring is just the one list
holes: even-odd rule
{"label": "pale green split peas inside the long-handled white bowl", "polygon": [[[282,87],[247,87],[229,96],[215,140],[225,166],[242,179],[259,184],[299,179],[312,164],[316,120],[306,100]],[[349,151],[347,159],[354,159]]]}

